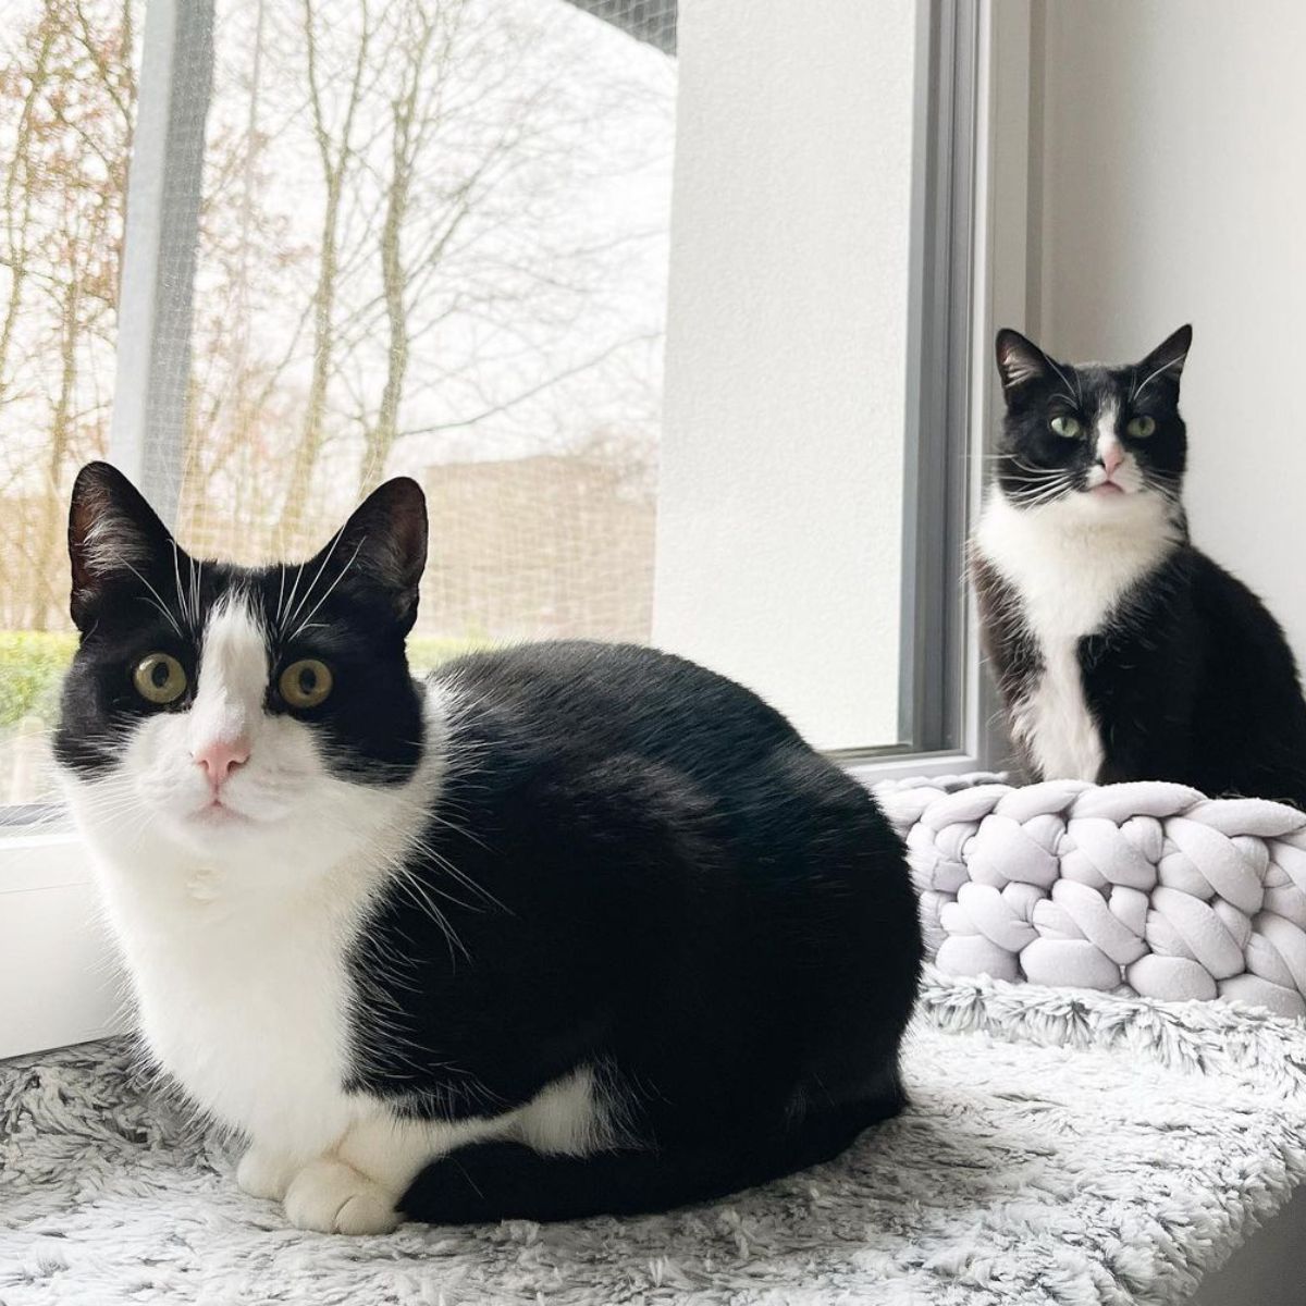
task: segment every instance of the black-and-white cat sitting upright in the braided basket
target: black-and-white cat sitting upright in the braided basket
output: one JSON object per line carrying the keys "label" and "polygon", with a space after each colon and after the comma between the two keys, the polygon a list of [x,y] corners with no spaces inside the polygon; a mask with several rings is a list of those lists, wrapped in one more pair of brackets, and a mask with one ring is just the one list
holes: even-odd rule
{"label": "black-and-white cat sitting upright in the braided basket", "polygon": [[1293,654],[1260,599],[1188,539],[1191,341],[1182,326],[1140,363],[1076,367],[998,333],[1007,415],[970,542],[985,649],[1036,777],[1173,780],[1306,807]]}

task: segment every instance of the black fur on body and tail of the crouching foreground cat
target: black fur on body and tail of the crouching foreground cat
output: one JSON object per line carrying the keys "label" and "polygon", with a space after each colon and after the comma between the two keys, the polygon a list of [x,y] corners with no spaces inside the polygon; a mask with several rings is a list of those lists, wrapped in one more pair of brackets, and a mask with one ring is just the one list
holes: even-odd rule
{"label": "black fur on body and tail of the crouching foreground cat", "polygon": [[[385,1013],[431,1055],[414,1070],[362,1050],[385,1042],[364,1015],[358,1084],[475,1114],[593,1064],[628,1145],[466,1148],[414,1183],[410,1213],[714,1196],[825,1160],[900,1109],[919,939],[900,845],[865,790],[755,695],[649,649],[525,646],[436,680],[464,707],[424,874],[464,899],[445,910],[471,960],[389,896],[354,964],[384,977],[390,949],[418,944],[405,982],[422,996],[397,983]],[[443,861],[504,910],[451,885]]]}

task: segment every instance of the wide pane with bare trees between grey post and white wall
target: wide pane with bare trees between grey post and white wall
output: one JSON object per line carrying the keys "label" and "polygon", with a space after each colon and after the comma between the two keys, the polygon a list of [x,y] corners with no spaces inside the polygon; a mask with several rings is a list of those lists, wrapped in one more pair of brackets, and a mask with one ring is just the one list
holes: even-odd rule
{"label": "wide pane with bare trees between grey post and white wall", "polygon": [[677,76],[629,8],[218,0],[188,547],[302,556],[405,473],[414,661],[649,637]]}

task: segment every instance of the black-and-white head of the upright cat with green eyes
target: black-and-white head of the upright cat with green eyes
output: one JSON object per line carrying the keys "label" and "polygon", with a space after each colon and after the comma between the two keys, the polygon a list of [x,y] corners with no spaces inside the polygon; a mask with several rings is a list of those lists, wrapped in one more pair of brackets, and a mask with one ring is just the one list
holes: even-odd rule
{"label": "black-and-white head of the upright cat with green eyes", "polygon": [[1191,342],[1192,329],[1181,326],[1140,363],[1075,367],[1000,330],[1007,417],[996,483],[1007,500],[1085,520],[1148,505],[1178,513],[1187,460],[1179,377]]}

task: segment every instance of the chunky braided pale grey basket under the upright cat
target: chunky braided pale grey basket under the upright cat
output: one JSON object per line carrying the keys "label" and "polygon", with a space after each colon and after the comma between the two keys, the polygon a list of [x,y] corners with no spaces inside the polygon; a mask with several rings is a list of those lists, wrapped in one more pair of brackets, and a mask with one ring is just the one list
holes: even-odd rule
{"label": "chunky braided pale grey basket under the upright cat", "polygon": [[995,776],[878,797],[940,970],[1306,1016],[1306,814],[1183,785]]}

